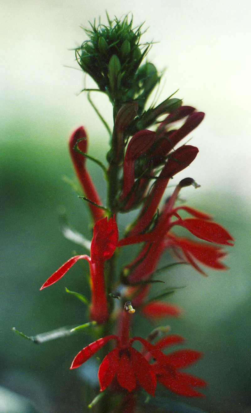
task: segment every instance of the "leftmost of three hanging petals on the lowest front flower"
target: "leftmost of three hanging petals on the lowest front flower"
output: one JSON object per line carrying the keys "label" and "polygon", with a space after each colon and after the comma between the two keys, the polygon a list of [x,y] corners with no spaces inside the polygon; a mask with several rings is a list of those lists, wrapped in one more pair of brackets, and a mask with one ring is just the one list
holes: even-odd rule
{"label": "leftmost of three hanging petals on the lowest front flower", "polygon": [[119,350],[116,348],[105,356],[99,366],[98,380],[100,382],[100,390],[103,391],[110,385],[119,366]]}

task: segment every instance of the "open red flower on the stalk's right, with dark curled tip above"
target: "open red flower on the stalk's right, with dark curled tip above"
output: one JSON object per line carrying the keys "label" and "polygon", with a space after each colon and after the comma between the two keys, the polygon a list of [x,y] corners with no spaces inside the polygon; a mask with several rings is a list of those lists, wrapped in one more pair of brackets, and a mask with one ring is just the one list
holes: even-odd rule
{"label": "open red flower on the stalk's right, with dark curled tip above", "polygon": [[[226,255],[220,246],[195,242],[187,238],[178,237],[172,232],[175,225],[180,225],[196,237],[207,242],[221,245],[233,244],[232,236],[221,225],[213,222],[210,215],[187,206],[174,207],[181,188],[191,184],[195,185],[194,180],[191,178],[185,178],[180,181],[172,196],[160,211],[158,221],[151,232],[130,235],[120,240],[120,246],[135,242],[137,239],[146,241],[138,256],[126,266],[127,272],[129,270],[127,282],[131,283],[131,285],[147,280],[154,273],[161,255],[167,248],[174,250],[179,259],[190,263],[197,271],[204,275],[205,273],[197,265],[196,260],[217,270],[224,270],[226,268],[220,261]],[[179,211],[185,211],[193,218],[182,219],[178,214]],[[174,220],[173,218],[177,219]],[[133,229],[133,233],[136,226]],[[144,286],[139,291],[139,294],[134,296],[133,304],[135,306],[142,304],[148,290],[149,286]],[[158,311],[156,311],[156,315],[158,315]]]}

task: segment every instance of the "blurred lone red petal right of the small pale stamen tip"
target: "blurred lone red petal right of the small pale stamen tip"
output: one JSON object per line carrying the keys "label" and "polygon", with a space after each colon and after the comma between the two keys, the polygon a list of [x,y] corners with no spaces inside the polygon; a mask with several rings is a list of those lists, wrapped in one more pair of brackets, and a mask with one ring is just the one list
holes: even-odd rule
{"label": "blurred lone red petal right of the small pale stamen tip", "polygon": [[166,304],[161,301],[151,301],[141,310],[143,316],[152,318],[178,317],[182,313],[175,304]]}

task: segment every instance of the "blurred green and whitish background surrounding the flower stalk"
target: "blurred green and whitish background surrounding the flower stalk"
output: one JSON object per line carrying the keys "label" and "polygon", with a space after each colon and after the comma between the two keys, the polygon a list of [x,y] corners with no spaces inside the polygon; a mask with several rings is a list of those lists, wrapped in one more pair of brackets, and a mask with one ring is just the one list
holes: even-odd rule
{"label": "blurred green and whitish background surrounding the flower stalk", "polygon": [[[156,42],[149,59],[166,69],[159,100],[179,88],[177,97],[206,112],[191,134],[200,153],[189,173],[183,171],[174,183],[187,174],[200,183],[182,197],[212,213],[236,239],[226,259],[229,271],[208,271],[203,278],[179,268],[168,275],[171,285],[186,288],[171,297],[184,316],[167,323],[187,338],[187,347],[203,351],[191,372],[209,387],[203,400],[159,389],[158,402],[166,412],[248,413],[251,5],[244,0],[1,1],[0,413],[85,412],[98,392],[94,362],[88,371],[69,370],[74,355],[90,341],[87,333],[36,346],[14,335],[12,327],[35,335],[87,320],[85,307],[64,290],[66,285],[88,295],[81,265],[50,289],[39,288],[72,254],[83,253],[60,233],[62,211],[76,230],[91,236],[86,205],[63,177],[74,179],[67,138],[75,127],[86,127],[91,154],[104,160],[108,148],[103,125],[86,95],[79,95],[84,76],[71,50],[86,38],[80,26],[99,16],[106,21],[105,9],[110,17],[132,12],[135,26],[146,21],[143,40]],[[92,85],[90,79],[86,84]],[[93,100],[111,123],[108,100],[94,93]],[[89,167],[105,201],[100,171]],[[121,232],[128,219],[120,219]],[[142,335],[152,328],[140,319],[139,325]]]}

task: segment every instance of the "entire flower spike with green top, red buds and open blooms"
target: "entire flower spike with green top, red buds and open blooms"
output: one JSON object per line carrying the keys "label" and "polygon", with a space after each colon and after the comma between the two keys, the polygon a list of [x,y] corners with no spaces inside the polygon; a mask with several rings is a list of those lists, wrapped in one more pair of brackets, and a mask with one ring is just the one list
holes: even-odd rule
{"label": "entire flower spike with green top, red buds and open blooms", "polygon": [[[155,321],[177,317],[182,312],[179,306],[163,301],[168,289],[167,294],[148,298],[152,283],[160,282],[154,279],[160,257],[169,249],[176,263],[189,264],[206,275],[203,266],[226,269],[222,246],[233,245],[233,238],[207,213],[184,204],[176,205],[182,188],[200,186],[194,179],[180,180],[172,192],[168,187],[170,180],[198,154],[197,147],[177,145],[201,123],[204,113],[172,97],[146,109],[147,99],[161,77],[152,63],[141,64],[150,44],[139,43],[141,27],[133,29],[127,17],[122,21],[108,18],[108,23],[98,27],[94,24],[86,31],[89,40],[76,49],[83,71],[93,78],[98,90],[108,95],[114,119],[107,166],[88,155],[87,135],[82,126],[69,139],[71,159],[94,224],[90,254],[68,259],[41,290],[60,280],[79,259],[88,262],[91,287],[88,317],[93,325],[98,324],[96,332],[102,337],[79,351],[71,369],[81,366],[106,346],[98,371],[100,391],[109,388],[110,392],[126,394],[125,401],[132,406],[130,411],[134,411],[132,398],[141,387],[154,396],[159,382],[182,396],[203,396],[196,388],[206,386],[205,380],[180,371],[196,362],[200,352],[181,349],[164,353],[167,347],[182,344],[181,336],[166,334],[167,328],[160,327],[146,339],[130,336],[131,324],[137,321],[135,310]],[[96,161],[105,173],[106,207],[86,168],[86,158]],[[163,200],[166,189],[170,191],[169,197]],[[138,215],[119,237],[118,214],[133,209],[138,210]],[[177,235],[178,227],[193,237]],[[123,253],[124,246],[135,244],[139,246],[134,257],[124,257],[123,267],[118,271],[117,256]],[[169,263],[166,270],[173,264]],[[112,334],[107,335],[108,332]],[[159,337],[160,334],[163,336]],[[111,341],[115,346],[111,346]],[[133,347],[134,342],[140,343],[140,351]]]}

